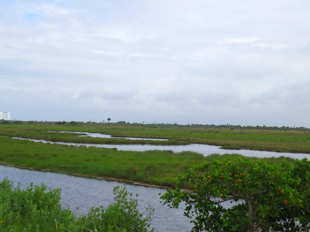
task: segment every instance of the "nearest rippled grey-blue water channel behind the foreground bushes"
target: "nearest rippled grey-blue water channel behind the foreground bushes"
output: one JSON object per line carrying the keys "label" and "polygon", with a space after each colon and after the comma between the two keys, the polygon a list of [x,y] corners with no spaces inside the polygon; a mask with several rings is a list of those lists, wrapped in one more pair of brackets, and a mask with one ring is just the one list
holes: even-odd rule
{"label": "nearest rippled grey-blue water channel behind the foreground bushes", "polygon": [[151,204],[155,208],[153,214],[152,226],[157,232],[185,232],[192,228],[189,219],[183,216],[184,204],[180,209],[170,209],[160,203],[158,193],[165,192],[164,188],[154,188],[118,181],[99,180],[94,178],[78,177],[67,174],[53,172],[33,171],[0,165],[0,180],[6,176],[10,180],[21,183],[23,188],[29,186],[31,182],[36,185],[45,183],[51,188],[62,188],[62,205],[70,206],[70,209],[78,214],[76,207],[79,207],[81,213],[87,213],[88,209],[98,205],[107,206],[113,202],[112,190],[114,186],[123,184],[133,195],[139,194],[139,210],[146,213],[145,208]]}

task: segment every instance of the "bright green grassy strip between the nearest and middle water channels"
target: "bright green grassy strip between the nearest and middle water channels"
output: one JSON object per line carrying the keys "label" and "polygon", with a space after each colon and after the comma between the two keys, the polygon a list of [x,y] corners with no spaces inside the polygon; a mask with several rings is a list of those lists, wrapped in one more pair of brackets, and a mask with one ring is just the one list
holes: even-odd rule
{"label": "bright green grassy strip between the nearest and middle water channels", "polygon": [[[168,187],[174,187],[176,176],[180,172],[188,172],[194,164],[202,163],[203,160],[221,160],[228,156],[232,155],[203,157],[194,152],[117,151],[114,148],[43,144],[0,137],[2,163]],[[277,164],[282,161],[281,158],[264,160]]]}

